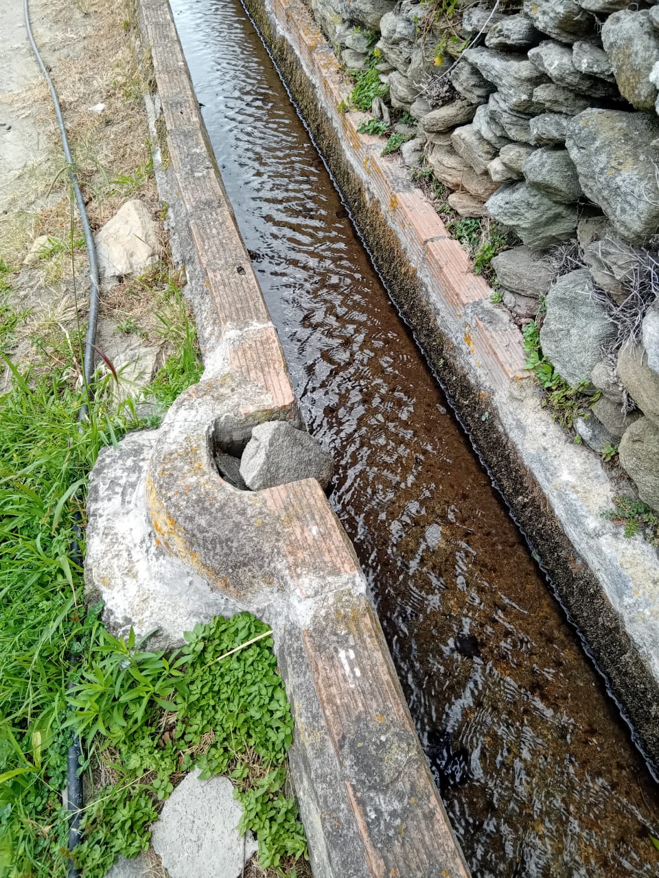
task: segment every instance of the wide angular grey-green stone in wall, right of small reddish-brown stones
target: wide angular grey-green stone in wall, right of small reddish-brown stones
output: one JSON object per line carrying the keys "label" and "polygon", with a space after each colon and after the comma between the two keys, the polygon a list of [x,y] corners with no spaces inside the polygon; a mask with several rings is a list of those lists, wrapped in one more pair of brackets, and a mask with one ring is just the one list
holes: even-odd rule
{"label": "wide angular grey-green stone in wall, right of small reddish-brown stones", "polygon": [[533,250],[565,241],[576,230],[576,207],[559,204],[527,183],[502,186],[488,199],[489,215],[512,226]]}

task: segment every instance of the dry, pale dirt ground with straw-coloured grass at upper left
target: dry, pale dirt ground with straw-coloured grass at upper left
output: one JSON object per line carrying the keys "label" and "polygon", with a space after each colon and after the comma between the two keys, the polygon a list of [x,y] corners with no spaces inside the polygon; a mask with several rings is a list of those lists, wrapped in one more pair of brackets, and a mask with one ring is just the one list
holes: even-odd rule
{"label": "dry, pale dirt ground with straw-coloured grass at upper left", "polygon": [[[97,342],[111,360],[126,349],[155,346],[157,368],[165,353],[157,313],[166,310],[163,287],[173,269],[142,103],[148,83],[135,50],[132,4],[32,0],[30,15],[62,104],[92,230],[97,232],[131,198],[148,206],[160,229],[163,264],[144,277],[102,290]],[[0,259],[11,269],[4,304],[20,315],[11,338],[12,358],[43,365],[44,359],[61,356],[62,345],[74,347],[72,335],[86,320],[87,256],[53,105],[27,40],[22,0],[0,4],[0,32],[5,35]],[[44,235],[47,241],[31,253],[34,241]],[[0,389],[6,381],[5,372]]]}

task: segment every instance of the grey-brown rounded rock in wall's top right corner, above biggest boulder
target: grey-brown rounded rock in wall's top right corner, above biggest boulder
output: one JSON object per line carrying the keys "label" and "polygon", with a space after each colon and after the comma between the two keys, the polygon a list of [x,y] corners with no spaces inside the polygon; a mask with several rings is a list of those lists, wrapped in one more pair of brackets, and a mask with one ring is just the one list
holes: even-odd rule
{"label": "grey-brown rounded rock in wall's top right corner, above biggest boulder", "polygon": [[656,86],[649,74],[659,58],[659,33],[647,10],[614,12],[602,26],[602,42],[620,94],[637,110],[653,112]]}

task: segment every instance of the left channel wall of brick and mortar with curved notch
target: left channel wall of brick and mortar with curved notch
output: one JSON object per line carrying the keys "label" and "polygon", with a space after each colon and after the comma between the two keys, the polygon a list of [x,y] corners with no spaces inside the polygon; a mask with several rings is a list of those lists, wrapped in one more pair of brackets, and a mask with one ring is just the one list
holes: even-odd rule
{"label": "left channel wall of brick and mortar with curved notch", "polygon": [[295,732],[291,777],[315,878],[467,878],[366,580],[315,479],[241,491],[214,453],[299,426],[277,333],[212,157],[167,0],[139,0],[156,176],[205,364],[157,430],[91,474],[88,600],[161,648],[212,615],[272,627]]}

